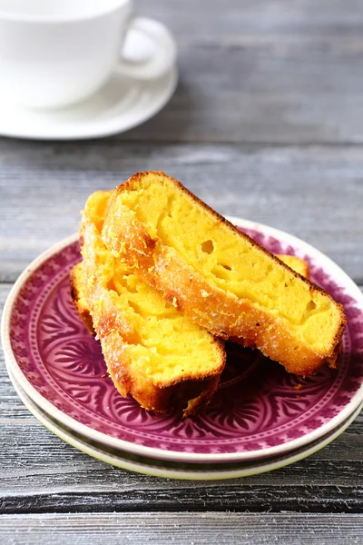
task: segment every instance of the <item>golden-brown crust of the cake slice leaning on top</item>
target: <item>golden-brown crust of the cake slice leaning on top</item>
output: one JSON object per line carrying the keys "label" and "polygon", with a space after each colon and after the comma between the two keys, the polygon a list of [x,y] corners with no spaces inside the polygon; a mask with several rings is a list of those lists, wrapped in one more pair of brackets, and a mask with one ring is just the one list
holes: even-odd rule
{"label": "golden-brown crust of the cake slice leaning on top", "polygon": [[[321,292],[329,302],[336,305],[340,320],[332,334],[329,350],[319,353],[311,349],[308,342],[297,342],[293,332],[279,316],[258,307],[248,299],[231,297],[228,292],[211,286],[205,277],[186,263],[174,248],[163,243],[158,236],[151,236],[146,226],[138,220],[132,210],[120,211],[117,197],[141,185],[145,176],[152,174],[169,180],[182,193],[211,214],[215,223],[224,224],[231,233],[257,246],[270,257],[271,263],[285,267],[291,274],[302,279],[309,286],[309,292]],[[191,316],[192,320],[209,332],[223,339],[239,338],[246,346],[257,347],[271,359],[282,363],[287,371],[309,375],[334,357],[345,328],[345,316],[341,305],[334,302],[328,293],[303,279],[298,272],[292,272],[288,265],[255,243],[245,233],[228,222],[207,204],[189,192],[182,183],[164,173],[136,173],[127,182],[119,185],[113,193],[108,213],[103,223],[103,241],[113,255],[129,263],[135,271],[150,283],[168,302],[178,310]]]}

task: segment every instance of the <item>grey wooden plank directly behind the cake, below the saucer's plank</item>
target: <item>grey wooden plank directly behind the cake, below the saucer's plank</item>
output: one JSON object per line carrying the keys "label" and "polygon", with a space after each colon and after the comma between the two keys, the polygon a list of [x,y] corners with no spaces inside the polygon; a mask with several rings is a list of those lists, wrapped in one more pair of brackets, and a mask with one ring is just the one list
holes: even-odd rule
{"label": "grey wooden plank directly behind the cake, below the saucer's plank", "polygon": [[[362,94],[363,96],[363,94]],[[142,170],[179,178],[220,213],[315,245],[363,281],[359,146],[37,144],[0,141],[0,279],[77,229],[87,196]]]}

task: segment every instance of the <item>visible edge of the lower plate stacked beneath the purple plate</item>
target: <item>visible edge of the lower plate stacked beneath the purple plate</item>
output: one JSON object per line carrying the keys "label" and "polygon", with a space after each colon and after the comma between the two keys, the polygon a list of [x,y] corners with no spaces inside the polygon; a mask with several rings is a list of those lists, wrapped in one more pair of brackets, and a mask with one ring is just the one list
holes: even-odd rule
{"label": "visible edge of the lower plate stacked beneath the purple plate", "polygon": [[25,407],[32,412],[34,417],[40,421],[45,428],[52,431],[63,441],[72,445],[75,449],[83,451],[85,454],[92,456],[100,461],[109,463],[123,470],[135,471],[152,477],[164,477],[168,479],[182,479],[187,481],[221,481],[223,479],[236,479],[239,477],[248,477],[257,475],[267,471],[278,470],[296,461],[303,460],[311,454],[319,451],[327,446],[329,442],[334,441],[345,431],[348,426],[354,421],[362,405],[358,407],[347,420],[342,422],[338,428],[330,432],[328,435],[312,442],[310,445],[297,451],[289,452],[289,454],[273,457],[266,461],[257,462],[240,462],[234,464],[188,464],[172,461],[153,460],[141,456],[135,456],[128,452],[110,449],[102,443],[89,441],[87,438],[74,431],[66,428],[60,422],[54,420],[45,411],[42,411],[34,401],[25,393],[23,388],[15,381],[15,378],[8,368],[10,380],[13,382],[15,391],[19,398],[24,402]]}

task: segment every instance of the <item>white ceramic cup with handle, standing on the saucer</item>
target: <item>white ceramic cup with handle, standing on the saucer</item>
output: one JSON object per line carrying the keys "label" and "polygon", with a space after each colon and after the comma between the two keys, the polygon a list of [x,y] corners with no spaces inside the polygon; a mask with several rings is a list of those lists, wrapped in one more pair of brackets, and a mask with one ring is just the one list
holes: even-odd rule
{"label": "white ceramic cup with handle, standing on the saucer", "polygon": [[[132,47],[126,46],[130,37]],[[145,44],[152,49],[147,58]],[[0,0],[3,100],[62,107],[96,92],[115,70],[153,79],[166,73],[175,57],[167,28],[134,17],[132,0]]]}

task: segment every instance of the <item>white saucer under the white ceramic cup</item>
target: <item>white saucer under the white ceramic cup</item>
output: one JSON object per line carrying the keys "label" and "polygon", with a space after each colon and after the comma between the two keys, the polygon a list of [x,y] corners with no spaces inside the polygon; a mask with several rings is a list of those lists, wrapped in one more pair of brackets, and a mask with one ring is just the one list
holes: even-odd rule
{"label": "white saucer under the white ceramic cup", "polygon": [[28,110],[0,103],[0,135],[39,140],[74,140],[123,133],[168,103],[178,82],[173,67],[161,78],[141,81],[113,74],[87,100],[59,110]]}

